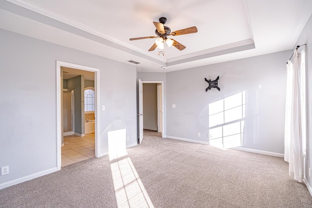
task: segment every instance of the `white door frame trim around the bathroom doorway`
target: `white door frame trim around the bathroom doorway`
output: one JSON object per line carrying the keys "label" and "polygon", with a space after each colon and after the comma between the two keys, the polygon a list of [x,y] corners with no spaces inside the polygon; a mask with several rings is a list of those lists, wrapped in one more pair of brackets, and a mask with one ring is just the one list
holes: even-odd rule
{"label": "white door frame trim around the bathroom doorway", "polygon": [[99,127],[100,127],[100,116],[99,116],[99,86],[100,86],[100,79],[99,79],[99,69],[92,68],[88,66],[82,66],[78,64],[58,61],[56,63],[56,87],[57,87],[57,168],[60,170],[61,168],[61,143],[62,143],[62,86],[61,86],[61,69],[60,67],[69,67],[84,71],[90,71],[94,72],[94,88],[96,92],[96,106],[95,106],[95,115],[96,115],[96,125],[95,125],[95,156],[100,157],[100,133],[99,133]]}

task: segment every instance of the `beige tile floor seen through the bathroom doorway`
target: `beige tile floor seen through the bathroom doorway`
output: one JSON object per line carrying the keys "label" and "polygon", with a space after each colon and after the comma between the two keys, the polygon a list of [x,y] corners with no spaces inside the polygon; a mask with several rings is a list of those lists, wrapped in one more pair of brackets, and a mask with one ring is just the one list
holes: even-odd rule
{"label": "beige tile floor seen through the bathroom doorway", "polygon": [[64,146],[61,147],[61,167],[95,157],[94,133],[85,136],[64,136]]}

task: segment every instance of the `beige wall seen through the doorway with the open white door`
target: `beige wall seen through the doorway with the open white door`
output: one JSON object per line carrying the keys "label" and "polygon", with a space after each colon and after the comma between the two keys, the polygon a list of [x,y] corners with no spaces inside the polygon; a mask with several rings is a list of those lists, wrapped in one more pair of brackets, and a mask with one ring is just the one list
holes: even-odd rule
{"label": "beige wall seen through the doorway with the open white door", "polygon": [[157,84],[143,84],[143,128],[157,131]]}

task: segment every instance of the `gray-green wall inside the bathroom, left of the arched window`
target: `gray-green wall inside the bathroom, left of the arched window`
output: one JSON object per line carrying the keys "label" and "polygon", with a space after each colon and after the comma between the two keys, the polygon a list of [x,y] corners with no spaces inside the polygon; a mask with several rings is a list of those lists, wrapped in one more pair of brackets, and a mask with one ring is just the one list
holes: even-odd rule
{"label": "gray-green wall inside the bathroom, left of the arched window", "polygon": [[75,133],[84,134],[84,76],[67,79],[67,89],[75,95]]}

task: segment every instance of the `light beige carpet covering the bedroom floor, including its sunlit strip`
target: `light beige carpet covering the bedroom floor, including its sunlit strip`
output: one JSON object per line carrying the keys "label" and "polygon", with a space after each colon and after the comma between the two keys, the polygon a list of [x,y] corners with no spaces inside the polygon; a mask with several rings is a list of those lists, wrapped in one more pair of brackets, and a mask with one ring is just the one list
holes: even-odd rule
{"label": "light beige carpet covering the bedroom floor, including its sunlit strip", "polygon": [[308,208],[283,158],[163,139],[0,190],[0,207]]}

